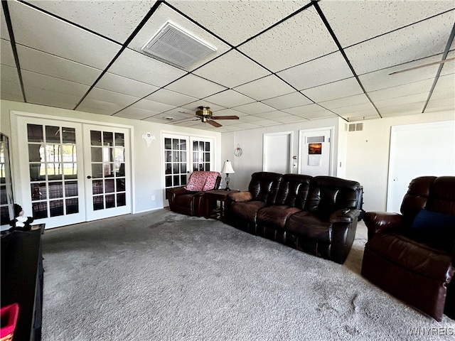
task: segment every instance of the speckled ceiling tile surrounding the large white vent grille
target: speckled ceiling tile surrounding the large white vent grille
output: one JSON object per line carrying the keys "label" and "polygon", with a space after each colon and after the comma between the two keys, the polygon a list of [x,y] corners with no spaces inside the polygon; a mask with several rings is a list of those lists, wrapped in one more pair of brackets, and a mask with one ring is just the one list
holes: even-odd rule
{"label": "speckled ceiling tile surrounding the large white vent grille", "polygon": [[202,60],[191,65],[191,67],[188,67],[188,71],[194,70],[196,67],[199,67],[218,55],[222,55],[226,51],[230,50],[230,46],[223,43],[222,40],[219,40],[203,28],[200,28],[196,25],[196,23],[193,23],[177,11],[174,11],[170,7],[164,6],[163,4],[161,4],[161,6],[159,6],[159,8],[153,13],[153,15],[149,18],[149,21],[147,21],[141,28],[132,42],[129,43],[128,47],[142,53],[141,48],[161,30],[167,21],[171,21],[174,25],[178,26],[178,28],[181,28],[189,35],[196,36],[199,40],[202,40],[204,43],[216,49],[214,53],[211,53]]}

